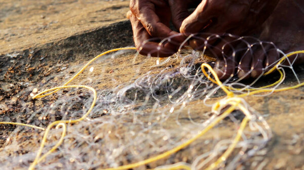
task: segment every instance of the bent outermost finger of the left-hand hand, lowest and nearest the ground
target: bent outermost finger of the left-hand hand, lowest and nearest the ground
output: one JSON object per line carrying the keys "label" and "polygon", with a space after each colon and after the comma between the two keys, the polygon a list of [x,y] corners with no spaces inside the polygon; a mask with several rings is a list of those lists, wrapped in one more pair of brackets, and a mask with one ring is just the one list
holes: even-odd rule
{"label": "bent outermost finger of the left-hand hand, lowest and nearest the ground", "polygon": [[151,36],[133,14],[130,14],[130,21],[134,35],[134,43],[140,54],[167,57],[176,52],[175,47],[165,47],[164,45],[157,42],[149,42],[148,40],[151,38]]}

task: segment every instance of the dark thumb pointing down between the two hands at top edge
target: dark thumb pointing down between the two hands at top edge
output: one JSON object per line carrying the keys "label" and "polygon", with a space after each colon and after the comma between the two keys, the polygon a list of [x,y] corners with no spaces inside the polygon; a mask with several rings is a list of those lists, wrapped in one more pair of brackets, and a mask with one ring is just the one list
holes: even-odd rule
{"label": "dark thumb pointing down between the two hands at top edge", "polygon": [[172,23],[174,27],[179,30],[183,20],[190,15],[187,1],[169,0],[169,6],[172,13]]}

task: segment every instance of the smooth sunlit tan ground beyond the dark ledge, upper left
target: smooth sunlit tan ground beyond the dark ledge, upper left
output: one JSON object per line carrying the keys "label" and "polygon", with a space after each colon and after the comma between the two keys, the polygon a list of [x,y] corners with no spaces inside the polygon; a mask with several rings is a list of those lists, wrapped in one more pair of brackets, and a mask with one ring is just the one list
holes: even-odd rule
{"label": "smooth sunlit tan ground beyond the dark ledge, upper left", "polygon": [[3,0],[0,5],[0,53],[3,53],[125,20],[129,2]]}

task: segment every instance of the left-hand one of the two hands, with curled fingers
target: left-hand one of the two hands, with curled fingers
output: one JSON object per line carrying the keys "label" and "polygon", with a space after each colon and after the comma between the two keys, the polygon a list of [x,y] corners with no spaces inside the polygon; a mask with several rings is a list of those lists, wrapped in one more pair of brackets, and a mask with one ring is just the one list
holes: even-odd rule
{"label": "left-hand one of the two hands, with curled fingers", "polygon": [[[166,57],[177,52],[185,37],[169,28],[170,21],[172,19],[179,30],[182,21],[189,15],[187,9],[199,3],[197,0],[131,0],[127,17],[131,21],[139,53]],[[159,43],[167,37],[171,38]]]}

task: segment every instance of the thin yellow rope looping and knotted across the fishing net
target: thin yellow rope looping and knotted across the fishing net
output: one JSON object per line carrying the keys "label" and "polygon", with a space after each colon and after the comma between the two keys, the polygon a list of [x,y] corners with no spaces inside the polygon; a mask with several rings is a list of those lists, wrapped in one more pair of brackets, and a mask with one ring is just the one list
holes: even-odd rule
{"label": "thin yellow rope looping and knotted across the fishing net", "polygon": [[[96,59],[98,59],[100,56],[105,55],[109,52],[113,52],[113,51],[118,51],[118,50],[124,50],[124,49],[136,49],[135,47],[126,47],[126,48],[116,48],[116,49],[111,49],[108,51],[105,51],[99,55],[97,55],[94,59],[92,59],[91,61],[89,61],[77,74],[75,74],[70,80],[68,80],[63,86],[59,86],[59,87],[54,87],[48,90],[44,90],[38,94],[36,94],[35,96],[33,96],[33,99],[35,98],[41,98],[44,96],[48,96],[50,94],[53,94],[55,92],[57,92],[60,89],[63,88],[87,88],[89,90],[91,90],[93,92],[93,102],[91,104],[91,107],[89,108],[89,110],[86,112],[85,115],[83,115],[83,117],[81,117],[80,119],[76,119],[76,120],[61,120],[61,121],[55,121],[52,122],[47,129],[41,128],[41,127],[36,127],[33,125],[27,125],[27,124],[21,124],[21,123],[13,123],[13,122],[0,122],[0,124],[12,124],[12,125],[21,125],[21,126],[27,126],[27,127],[31,127],[31,128],[37,128],[37,129],[41,129],[41,130],[45,130],[45,134],[41,143],[41,146],[39,148],[39,151],[36,154],[36,157],[34,159],[34,161],[32,162],[32,164],[29,166],[29,169],[34,169],[35,165],[39,162],[41,162],[43,159],[45,159],[49,154],[51,154],[54,150],[56,150],[63,142],[64,136],[66,134],[66,124],[73,124],[73,123],[78,123],[83,121],[92,111],[95,103],[96,103],[96,99],[97,99],[97,93],[96,90],[93,89],[92,87],[89,86],[84,86],[84,85],[67,85],[68,83],[70,83],[73,79],[75,79],[77,76],[79,76],[92,62],[94,62]],[[304,53],[304,50],[301,51],[295,51],[295,52],[291,52],[287,55],[285,55],[280,61],[279,63],[273,67],[270,71],[268,71],[267,73],[265,73],[264,75],[268,75],[270,73],[272,73],[275,69],[277,69],[279,71],[279,69],[277,68],[277,66],[279,64],[281,64],[286,58],[288,58],[289,56],[293,55],[293,54],[297,54],[297,53]],[[214,79],[212,79],[207,72],[205,71],[204,68],[207,68],[211,74],[213,75]],[[229,146],[229,148],[219,157],[219,159],[217,159],[214,163],[212,163],[209,167],[207,167],[207,169],[214,169],[216,167],[218,167],[218,165],[225,161],[227,159],[227,157],[229,157],[229,155],[231,154],[231,152],[234,150],[234,148],[236,147],[237,143],[240,141],[241,135],[243,134],[243,131],[246,127],[247,122],[251,119],[250,118],[250,112],[248,109],[246,109],[242,104],[241,104],[241,98],[243,96],[247,96],[247,95],[253,95],[253,94],[257,94],[257,93],[263,93],[263,92],[277,92],[277,91],[284,91],[284,90],[289,90],[289,89],[293,89],[293,88],[297,88],[300,86],[303,86],[304,83],[300,83],[298,85],[292,86],[292,87],[286,87],[286,88],[281,88],[281,89],[261,89],[261,88],[267,88],[267,87],[271,87],[274,85],[277,85],[278,83],[280,83],[283,80],[283,73],[281,71],[281,77],[278,81],[276,81],[275,83],[271,84],[271,85],[267,85],[264,87],[260,87],[260,88],[255,88],[255,89],[250,89],[253,90],[249,93],[246,94],[240,94],[240,95],[235,95],[233,92],[229,91],[229,89],[237,89],[237,88],[233,88],[233,87],[227,87],[224,86],[222,84],[222,82],[219,80],[218,76],[216,75],[216,73],[214,72],[214,70],[212,69],[211,66],[209,66],[208,64],[204,63],[201,65],[202,71],[204,73],[204,75],[213,83],[217,84],[226,94],[227,94],[227,98],[224,99],[222,102],[216,102],[213,105],[212,110],[215,111],[219,111],[220,108],[223,108],[223,106],[227,106],[229,105],[229,108],[226,109],[222,114],[220,114],[217,118],[215,118],[214,121],[212,121],[211,123],[209,123],[209,125],[203,129],[202,131],[200,131],[196,136],[194,136],[193,138],[185,141],[184,143],[172,148],[171,150],[168,150],[162,154],[159,154],[157,156],[136,162],[136,163],[131,163],[131,164],[127,164],[127,165],[123,165],[123,166],[118,166],[118,167],[111,167],[111,168],[99,168],[99,170],[119,170],[119,169],[129,169],[129,168],[135,168],[138,167],[140,165],[144,165],[153,161],[157,161],[159,159],[163,159],[165,157],[168,157],[176,152],[178,152],[180,149],[187,147],[189,144],[193,143],[195,140],[197,140],[198,138],[200,138],[201,136],[203,136],[206,132],[208,132],[211,128],[213,128],[215,125],[217,125],[221,120],[223,120],[225,117],[227,117],[229,114],[231,114],[231,112],[235,109],[240,109],[241,111],[243,111],[243,113],[246,115],[246,117],[243,119],[240,128],[238,130],[238,133],[235,137],[235,139],[233,140],[232,144]],[[49,93],[48,93],[49,92]],[[47,93],[47,94],[45,94]],[[55,125],[56,128],[58,129],[60,126],[63,129],[63,132],[61,134],[61,138],[60,140],[57,142],[57,144],[55,146],[52,147],[51,150],[49,150],[47,153],[45,153],[43,156],[41,156],[43,148],[45,146],[49,131],[52,127],[54,127]],[[189,166],[187,165],[172,165],[171,167],[168,167],[168,169],[191,169]]]}

